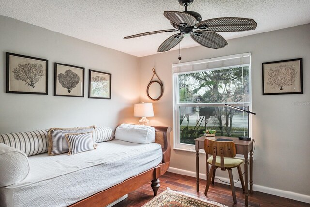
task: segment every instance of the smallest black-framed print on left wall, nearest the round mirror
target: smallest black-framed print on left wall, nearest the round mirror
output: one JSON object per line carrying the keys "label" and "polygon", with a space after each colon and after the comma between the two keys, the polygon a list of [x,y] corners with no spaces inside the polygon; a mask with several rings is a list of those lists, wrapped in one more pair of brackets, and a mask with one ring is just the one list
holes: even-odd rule
{"label": "smallest black-framed print on left wall, nearest the round mirror", "polygon": [[88,98],[111,99],[112,74],[89,70]]}

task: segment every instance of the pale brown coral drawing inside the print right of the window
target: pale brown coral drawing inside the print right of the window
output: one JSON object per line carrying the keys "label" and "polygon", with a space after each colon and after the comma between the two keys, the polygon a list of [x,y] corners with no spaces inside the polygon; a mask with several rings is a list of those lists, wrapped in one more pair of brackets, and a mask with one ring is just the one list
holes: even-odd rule
{"label": "pale brown coral drawing inside the print right of the window", "polygon": [[266,82],[272,89],[282,91],[285,86],[294,85],[297,78],[297,69],[294,65],[279,65],[270,68]]}

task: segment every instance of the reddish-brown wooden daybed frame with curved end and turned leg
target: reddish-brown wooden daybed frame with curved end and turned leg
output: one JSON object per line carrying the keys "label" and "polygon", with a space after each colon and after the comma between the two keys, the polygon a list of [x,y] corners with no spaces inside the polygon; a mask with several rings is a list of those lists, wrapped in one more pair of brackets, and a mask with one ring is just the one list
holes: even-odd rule
{"label": "reddish-brown wooden daybed frame with curved end and turned leg", "polygon": [[159,143],[163,151],[162,163],[154,168],[151,168],[139,175],[131,177],[122,183],[112,186],[104,191],[98,192],[88,198],[85,198],[70,207],[96,207],[96,206],[107,206],[118,198],[128,194],[131,191],[140,188],[145,183],[151,181],[151,187],[154,192],[154,196],[157,195],[159,189],[159,177],[163,175],[169,167],[171,157],[171,146],[170,146],[170,132],[171,127],[152,126],[155,127],[156,137],[155,143]]}

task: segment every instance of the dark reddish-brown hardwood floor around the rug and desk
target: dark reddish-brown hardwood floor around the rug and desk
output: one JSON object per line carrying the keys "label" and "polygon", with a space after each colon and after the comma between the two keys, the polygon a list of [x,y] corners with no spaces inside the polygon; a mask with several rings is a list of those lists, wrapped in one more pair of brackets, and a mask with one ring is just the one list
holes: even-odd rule
{"label": "dark reddish-brown hardwood floor around the rug and desk", "polygon": [[[180,191],[195,197],[216,201],[229,207],[243,207],[244,194],[241,188],[236,188],[237,204],[233,204],[232,191],[229,185],[215,183],[210,185],[207,197],[204,195],[205,180],[200,180],[199,192],[196,192],[196,178],[167,172],[160,178],[158,194],[166,188]],[[255,190],[255,189],[254,189]],[[128,198],[114,205],[114,207],[141,207],[153,198],[150,183],[145,184],[136,191],[128,194]],[[249,207],[310,207],[310,204],[294,201],[291,199],[254,191],[248,197]]]}

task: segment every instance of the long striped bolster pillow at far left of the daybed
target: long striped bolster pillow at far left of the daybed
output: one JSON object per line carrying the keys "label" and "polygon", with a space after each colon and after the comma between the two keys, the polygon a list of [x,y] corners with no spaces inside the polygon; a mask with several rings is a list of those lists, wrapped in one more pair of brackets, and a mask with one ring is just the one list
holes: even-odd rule
{"label": "long striped bolster pillow at far left of the daybed", "polygon": [[31,156],[47,152],[48,136],[46,130],[1,134],[0,143]]}

